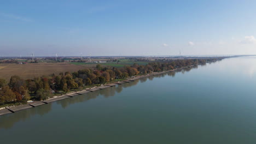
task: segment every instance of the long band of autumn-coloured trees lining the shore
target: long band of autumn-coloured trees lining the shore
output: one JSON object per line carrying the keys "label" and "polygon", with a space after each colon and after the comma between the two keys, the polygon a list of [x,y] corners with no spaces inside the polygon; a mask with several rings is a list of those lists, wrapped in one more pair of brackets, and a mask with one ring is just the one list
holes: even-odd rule
{"label": "long band of autumn-coloured trees lining the shore", "polygon": [[211,59],[176,59],[168,62],[152,62],[147,65],[133,64],[130,67],[114,68],[96,65],[95,69],[82,69],[73,73],[67,71],[59,75],[41,76],[34,79],[21,79],[11,76],[10,81],[0,79],[0,104],[10,104],[33,99],[44,100],[52,97],[55,92],[79,90],[86,86],[111,82],[117,79],[126,79],[138,74],[150,74],[154,71],[164,71],[182,68],[190,65],[215,62],[222,58]]}

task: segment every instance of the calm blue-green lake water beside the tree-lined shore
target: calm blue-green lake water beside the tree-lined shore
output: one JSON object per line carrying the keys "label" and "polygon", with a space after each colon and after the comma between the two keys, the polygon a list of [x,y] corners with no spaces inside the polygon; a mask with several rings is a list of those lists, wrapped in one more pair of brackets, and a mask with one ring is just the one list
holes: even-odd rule
{"label": "calm blue-green lake water beside the tree-lined shore", "polygon": [[256,57],[0,116],[1,143],[256,143]]}

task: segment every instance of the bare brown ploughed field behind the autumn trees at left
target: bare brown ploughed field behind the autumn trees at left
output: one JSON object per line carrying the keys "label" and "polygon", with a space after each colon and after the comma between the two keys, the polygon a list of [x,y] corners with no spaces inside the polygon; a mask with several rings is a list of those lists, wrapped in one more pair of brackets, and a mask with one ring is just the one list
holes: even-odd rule
{"label": "bare brown ploughed field behind the autumn trees at left", "polygon": [[69,63],[0,64],[0,78],[9,81],[11,76],[18,75],[23,79],[33,79],[43,75],[72,72],[79,69],[84,69],[84,67]]}

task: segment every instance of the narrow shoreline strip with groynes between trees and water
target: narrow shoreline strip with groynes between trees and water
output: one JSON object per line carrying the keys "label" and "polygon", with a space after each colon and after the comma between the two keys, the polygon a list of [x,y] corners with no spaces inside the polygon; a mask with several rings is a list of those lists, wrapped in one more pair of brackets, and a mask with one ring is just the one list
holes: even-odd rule
{"label": "narrow shoreline strip with groynes between trees and water", "polygon": [[54,101],[58,101],[58,100],[62,100],[62,99],[72,98],[72,97],[75,97],[77,95],[82,95],[82,94],[85,94],[85,93],[95,92],[95,91],[98,91],[98,90],[101,90],[101,89],[104,89],[104,88],[113,87],[115,85],[121,85],[124,82],[135,81],[135,80],[141,79],[143,77],[165,74],[165,73],[169,73],[171,71],[182,70],[182,69],[190,68],[190,67],[194,67],[194,66],[195,65],[190,65],[190,66],[186,66],[186,67],[182,67],[182,68],[176,68],[176,69],[172,69],[172,70],[153,72],[153,73],[147,74],[147,75],[137,75],[137,76],[129,77],[126,80],[123,80],[123,81],[107,83],[107,84],[104,84],[103,86],[98,86],[98,87],[86,88],[86,89],[83,89],[82,91],[73,91],[73,92],[66,93],[65,95],[55,96],[53,98],[49,98],[49,99],[46,99],[46,100],[33,101],[32,103],[28,103],[28,104],[24,104],[24,105],[18,105],[18,106],[1,107],[0,116],[7,115],[9,113],[15,113],[15,112],[21,111],[21,110],[30,109],[32,107],[37,107],[37,106],[40,106],[40,105],[45,105],[45,104],[52,103]]}

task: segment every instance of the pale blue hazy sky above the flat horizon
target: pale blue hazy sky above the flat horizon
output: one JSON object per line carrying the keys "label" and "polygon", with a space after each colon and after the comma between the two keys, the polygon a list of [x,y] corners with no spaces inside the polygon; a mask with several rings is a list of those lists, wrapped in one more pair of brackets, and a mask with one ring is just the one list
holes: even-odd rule
{"label": "pale blue hazy sky above the flat horizon", "polygon": [[0,56],[256,54],[256,1],[0,1]]}

